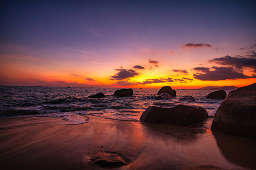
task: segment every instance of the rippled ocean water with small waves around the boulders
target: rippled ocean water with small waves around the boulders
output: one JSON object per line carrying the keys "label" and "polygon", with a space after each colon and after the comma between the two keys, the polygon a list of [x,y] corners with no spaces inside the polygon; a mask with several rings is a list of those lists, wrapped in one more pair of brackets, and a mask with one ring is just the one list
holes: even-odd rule
{"label": "rippled ocean water with small waves around the boulders", "polygon": [[[0,86],[0,117],[38,116],[61,117],[70,124],[89,121],[86,115],[105,119],[139,121],[140,115],[150,105],[187,104],[201,106],[213,117],[223,100],[206,98],[210,90],[176,90],[177,96],[170,100],[156,100],[159,89],[133,88],[133,96],[116,97],[120,88],[84,87],[30,87]],[[105,98],[87,96],[104,93]],[[226,91],[228,94],[229,91]],[[191,95],[195,102],[184,102],[183,96]]]}

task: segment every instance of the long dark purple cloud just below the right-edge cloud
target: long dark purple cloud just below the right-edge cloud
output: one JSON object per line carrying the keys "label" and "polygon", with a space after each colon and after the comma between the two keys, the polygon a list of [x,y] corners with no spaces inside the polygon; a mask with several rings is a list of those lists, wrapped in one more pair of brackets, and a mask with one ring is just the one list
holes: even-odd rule
{"label": "long dark purple cloud just below the right-edge cloud", "polygon": [[227,79],[238,79],[238,78],[250,78],[250,76],[244,75],[242,72],[236,71],[232,67],[212,67],[210,68],[194,68],[194,70],[201,71],[202,73],[194,74],[194,78],[203,81],[217,81]]}

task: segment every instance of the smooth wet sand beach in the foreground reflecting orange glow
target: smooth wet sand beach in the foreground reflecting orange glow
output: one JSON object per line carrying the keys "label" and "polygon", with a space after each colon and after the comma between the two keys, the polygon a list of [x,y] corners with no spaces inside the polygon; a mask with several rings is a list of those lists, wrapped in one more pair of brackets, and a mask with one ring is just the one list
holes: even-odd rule
{"label": "smooth wet sand beach in the foreground reflecting orange glow", "polygon": [[127,158],[125,166],[111,169],[256,169],[256,140],[211,132],[210,118],[203,126],[178,127],[88,117],[80,125],[61,118],[1,118],[1,169],[104,169],[90,161],[100,147]]}

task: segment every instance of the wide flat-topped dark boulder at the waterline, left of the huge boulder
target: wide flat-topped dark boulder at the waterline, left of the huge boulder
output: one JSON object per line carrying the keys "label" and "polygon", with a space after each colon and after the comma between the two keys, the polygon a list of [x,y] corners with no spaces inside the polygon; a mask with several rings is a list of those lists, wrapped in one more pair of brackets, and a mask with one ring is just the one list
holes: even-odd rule
{"label": "wide flat-topped dark boulder at the waterline, left of the huge boulder", "polygon": [[140,120],[186,126],[199,123],[206,118],[208,118],[208,112],[204,108],[180,104],[174,107],[149,106],[142,113]]}

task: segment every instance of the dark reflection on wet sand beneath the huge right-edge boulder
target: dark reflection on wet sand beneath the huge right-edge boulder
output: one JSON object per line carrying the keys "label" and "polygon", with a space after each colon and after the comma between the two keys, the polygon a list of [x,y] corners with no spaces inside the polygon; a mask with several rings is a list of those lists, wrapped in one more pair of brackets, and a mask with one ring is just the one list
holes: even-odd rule
{"label": "dark reflection on wet sand beneath the huge right-edge boulder", "polygon": [[224,157],[238,166],[256,168],[256,140],[212,131]]}

